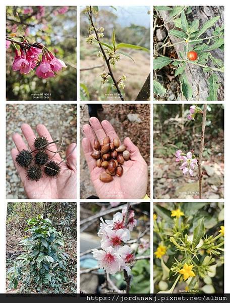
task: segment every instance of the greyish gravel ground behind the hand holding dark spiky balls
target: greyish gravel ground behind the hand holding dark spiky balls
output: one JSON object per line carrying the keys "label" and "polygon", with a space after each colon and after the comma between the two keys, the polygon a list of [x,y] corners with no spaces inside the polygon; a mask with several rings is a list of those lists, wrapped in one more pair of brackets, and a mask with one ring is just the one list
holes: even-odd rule
{"label": "greyish gravel ground behind the hand holding dark spiky balls", "polygon": [[[7,105],[6,106],[6,198],[27,198],[22,182],[11,158],[11,149],[15,147],[12,135],[16,132],[22,135],[21,125],[28,123],[36,133],[36,125],[44,124],[53,139],[62,139],[62,149],[76,142],[76,105]],[[65,153],[62,153],[65,157]]]}

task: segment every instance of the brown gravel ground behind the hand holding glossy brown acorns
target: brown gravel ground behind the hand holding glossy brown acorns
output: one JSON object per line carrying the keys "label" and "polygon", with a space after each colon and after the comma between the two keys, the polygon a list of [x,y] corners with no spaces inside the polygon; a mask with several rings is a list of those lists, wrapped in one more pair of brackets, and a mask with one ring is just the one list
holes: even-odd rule
{"label": "brown gravel ground behind the hand holding glossy brown acorns", "polygon": [[[103,112],[98,113],[99,120],[108,120],[123,141],[129,136],[148,164],[147,195],[150,197],[150,105],[103,105]],[[132,120],[132,122],[130,121]],[[80,105],[80,141],[84,135],[82,127],[89,123],[88,106]],[[82,145],[80,145],[80,198],[96,195],[90,180]]]}

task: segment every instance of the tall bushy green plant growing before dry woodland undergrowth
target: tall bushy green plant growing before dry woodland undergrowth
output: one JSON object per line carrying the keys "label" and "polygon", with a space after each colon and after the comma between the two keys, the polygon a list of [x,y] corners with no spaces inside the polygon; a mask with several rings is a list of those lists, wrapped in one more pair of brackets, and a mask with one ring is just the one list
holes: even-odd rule
{"label": "tall bushy green plant growing before dry woodland undergrowth", "polygon": [[61,283],[67,282],[65,275],[68,255],[64,252],[62,234],[52,222],[38,215],[29,219],[25,231],[28,236],[20,241],[25,252],[17,257],[8,271],[10,288],[36,289],[61,292]]}

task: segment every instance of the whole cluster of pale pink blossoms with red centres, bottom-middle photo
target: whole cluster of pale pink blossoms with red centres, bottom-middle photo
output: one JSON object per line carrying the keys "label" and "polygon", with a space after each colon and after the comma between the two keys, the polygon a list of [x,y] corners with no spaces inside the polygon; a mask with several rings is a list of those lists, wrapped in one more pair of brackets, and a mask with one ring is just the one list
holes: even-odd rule
{"label": "whole cluster of pale pink blossoms with red centres, bottom-middle photo", "polygon": [[101,249],[93,249],[93,257],[98,260],[100,268],[108,274],[116,274],[125,269],[130,272],[130,265],[134,262],[133,249],[125,245],[130,239],[130,231],[137,225],[134,211],[129,212],[129,220],[125,226],[126,208],[122,213],[113,215],[113,220],[100,218],[98,236],[101,238]]}

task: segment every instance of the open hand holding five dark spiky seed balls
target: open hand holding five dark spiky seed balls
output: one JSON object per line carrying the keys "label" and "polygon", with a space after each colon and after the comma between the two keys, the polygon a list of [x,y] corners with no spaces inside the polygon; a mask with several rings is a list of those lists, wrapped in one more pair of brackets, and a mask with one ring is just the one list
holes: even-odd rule
{"label": "open hand holding five dark spiky seed balls", "polygon": [[[22,124],[21,126],[23,135],[25,136],[28,145],[31,150],[34,149],[33,142],[36,138],[33,130],[28,124]],[[53,141],[48,130],[42,124],[37,125],[37,133],[39,136],[44,136],[49,142]],[[68,146],[66,151],[67,162],[61,163],[61,173],[57,178],[49,178],[43,174],[43,177],[39,181],[31,181],[26,176],[26,170],[20,167],[15,159],[19,151],[22,149],[28,149],[23,138],[15,133],[13,140],[17,148],[13,148],[11,155],[15,166],[19,172],[22,180],[26,195],[29,199],[75,199],[77,197],[76,191],[76,162],[77,155],[76,149],[73,151],[76,143],[72,143]],[[57,147],[55,144],[49,145],[49,150],[56,151]],[[73,151],[73,153],[72,153]],[[53,157],[53,153],[46,150],[49,158]],[[60,163],[62,161],[60,155],[57,153],[52,160]]]}

